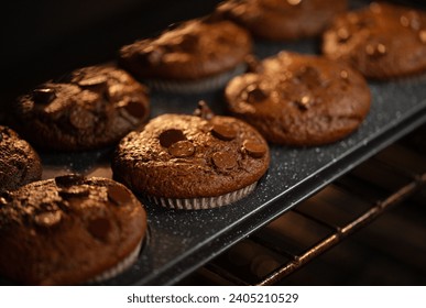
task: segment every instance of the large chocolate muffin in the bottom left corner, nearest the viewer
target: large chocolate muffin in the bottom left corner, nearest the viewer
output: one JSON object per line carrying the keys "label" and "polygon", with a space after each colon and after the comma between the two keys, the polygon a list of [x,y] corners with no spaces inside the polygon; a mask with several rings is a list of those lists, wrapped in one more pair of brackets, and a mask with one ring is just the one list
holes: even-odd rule
{"label": "large chocolate muffin in the bottom left corner, nearest the viewer", "polygon": [[146,215],[123,185],[64,175],[0,197],[0,274],[25,285],[112,277],[138,257]]}

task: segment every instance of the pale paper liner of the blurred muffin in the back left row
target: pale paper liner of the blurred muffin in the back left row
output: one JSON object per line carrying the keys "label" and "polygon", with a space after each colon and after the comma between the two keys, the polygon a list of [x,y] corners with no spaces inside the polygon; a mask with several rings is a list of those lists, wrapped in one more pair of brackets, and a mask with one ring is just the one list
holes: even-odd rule
{"label": "pale paper liner of the blurred muffin in the back left row", "polygon": [[146,79],[144,81],[149,87],[160,91],[190,95],[211,91],[225,87],[231,78],[245,73],[245,70],[247,64],[242,63],[232,70],[197,80]]}

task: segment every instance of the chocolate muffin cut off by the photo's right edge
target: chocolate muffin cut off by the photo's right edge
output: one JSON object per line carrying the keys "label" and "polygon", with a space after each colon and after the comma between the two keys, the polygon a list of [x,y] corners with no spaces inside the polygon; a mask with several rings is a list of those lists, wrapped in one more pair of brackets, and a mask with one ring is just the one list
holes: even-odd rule
{"label": "chocolate muffin cut off by the photo's right edge", "polygon": [[426,12],[372,2],[332,22],[324,33],[323,53],[373,79],[425,72]]}

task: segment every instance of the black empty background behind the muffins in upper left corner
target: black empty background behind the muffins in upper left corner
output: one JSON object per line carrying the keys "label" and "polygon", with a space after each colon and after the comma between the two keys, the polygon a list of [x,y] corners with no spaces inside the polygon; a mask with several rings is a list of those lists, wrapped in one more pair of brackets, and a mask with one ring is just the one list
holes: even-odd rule
{"label": "black empty background behind the muffins in upper left corner", "polygon": [[219,0],[14,0],[0,19],[0,123],[20,95],[167,25],[211,12]]}

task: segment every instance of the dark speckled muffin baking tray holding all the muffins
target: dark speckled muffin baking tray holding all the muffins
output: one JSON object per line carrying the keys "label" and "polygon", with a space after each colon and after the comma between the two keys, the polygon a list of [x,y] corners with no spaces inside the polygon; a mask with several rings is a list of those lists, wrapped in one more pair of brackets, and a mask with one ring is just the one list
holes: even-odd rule
{"label": "dark speckled muffin baking tray holding all the muffins", "polygon": [[[359,7],[368,1],[351,1]],[[256,42],[259,58],[282,50],[315,54],[318,41],[291,44]],[[200,211],[164,209],[141,198],[149,218],[148,240],[138,262],[102,285],[173,285],[290,210],[320,188],[347,173],[376,152],[426,122],[426,76],[369,82],[372,108],[358,131],[326,146],[288,147],[271,145],[271,165],[256,189],[232,205]],[[206,100],[219,114],[226,114],[222,90],[190,96],[153,91],[152,113],[192,113]],[[112,177],[113,148],[84,153],[41,153],[43,178],[68,172]],[[10,282],[2,280],[2,284]]]}

